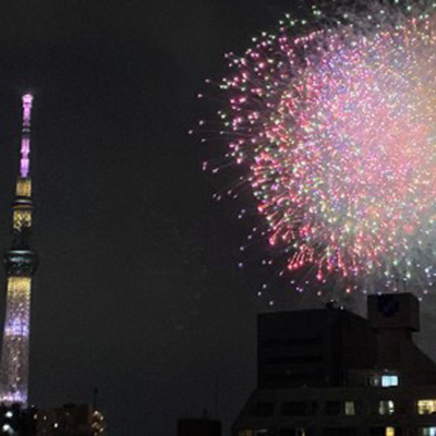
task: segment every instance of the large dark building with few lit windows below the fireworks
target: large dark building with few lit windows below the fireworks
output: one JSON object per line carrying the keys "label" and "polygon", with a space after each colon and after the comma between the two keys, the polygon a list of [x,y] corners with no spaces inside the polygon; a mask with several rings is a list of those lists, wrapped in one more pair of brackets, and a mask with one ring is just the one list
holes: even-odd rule
{"label": "large dark building with few lit windows below the fireworks", "polygon": [[367,306],[367,319],[334,305],[259,315],[257,389],[233,435],[436,436],[436,364],[412,340],[417,300]]}

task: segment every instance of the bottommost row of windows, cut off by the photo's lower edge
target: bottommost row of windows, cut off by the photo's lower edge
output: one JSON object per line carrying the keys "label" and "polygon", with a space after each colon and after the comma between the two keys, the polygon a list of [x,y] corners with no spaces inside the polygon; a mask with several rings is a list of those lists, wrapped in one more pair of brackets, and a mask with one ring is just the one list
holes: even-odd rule
{"label": "bottommost row of windows, cut off by the photo's lower edge", "polygon": [[[329,427],[324,428],[323,436],[355,436],[359,433],[355,427]],[[315,432],[311,428],[280,428],[275,429],[240,429],[238,436],[313,436]],[[371,427],[370,436],[405,436],[401,427]],[[419,427],[417,436],[436,436],[436,427]]]}

